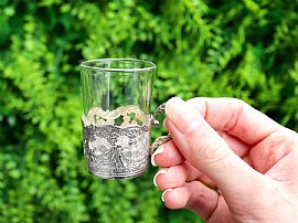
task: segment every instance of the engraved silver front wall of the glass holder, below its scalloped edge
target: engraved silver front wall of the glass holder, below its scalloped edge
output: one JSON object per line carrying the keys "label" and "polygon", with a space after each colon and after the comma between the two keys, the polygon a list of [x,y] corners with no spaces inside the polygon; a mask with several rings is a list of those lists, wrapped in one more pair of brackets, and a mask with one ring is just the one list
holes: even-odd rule
{"label": "engraved silver front wall of the glass holder, below its scalloped edge", "polygon": [[95,125],[82,118],[88,172],[104,179],[140,176],[148,168],[150,131],[141,126]]}

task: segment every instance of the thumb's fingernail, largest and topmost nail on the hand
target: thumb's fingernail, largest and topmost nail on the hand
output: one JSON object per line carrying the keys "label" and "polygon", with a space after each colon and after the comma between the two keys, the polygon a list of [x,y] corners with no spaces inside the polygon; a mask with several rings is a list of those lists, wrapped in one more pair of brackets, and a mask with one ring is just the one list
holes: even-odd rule
{"label": "thumb's fingernail, largest and topmost nail on the hand", "polygon": [[172,97],[166,103],[166,114],[181,134],[184,134],[199,117],[194,108],[179,97]]}

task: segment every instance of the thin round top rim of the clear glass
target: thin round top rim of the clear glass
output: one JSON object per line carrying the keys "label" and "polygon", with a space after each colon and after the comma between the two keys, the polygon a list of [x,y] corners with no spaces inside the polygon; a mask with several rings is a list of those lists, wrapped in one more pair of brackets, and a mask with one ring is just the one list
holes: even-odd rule
{"label": "thin round top rim of the clear glass", "polygon": [[[107,61],[131,61],[131,62],[141,62],[148,65],[148,67],[136,67],[136,68],[109,68],[109,67],[99,67],[99,66],[91,66],[88,63],[93,62],[102,62],[105,63]],[[146,60],[139,60],[139,59],[94,59],[94,60],[87,60],[84,61],[79,64],[81,67],[83,68],[89,68],[89,70],[98,70],[98,71],[104,71],[104,72],[146,72],[146,71],[151,71],[157,67],[157,65],[150,61]]]}

